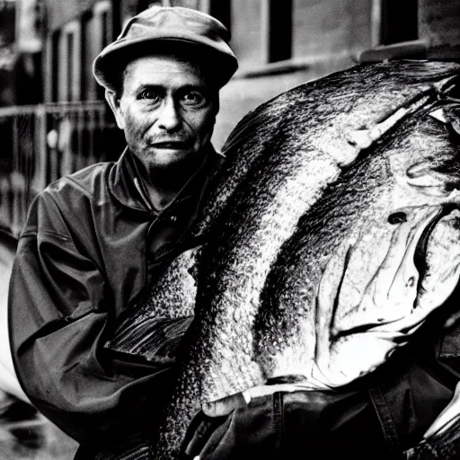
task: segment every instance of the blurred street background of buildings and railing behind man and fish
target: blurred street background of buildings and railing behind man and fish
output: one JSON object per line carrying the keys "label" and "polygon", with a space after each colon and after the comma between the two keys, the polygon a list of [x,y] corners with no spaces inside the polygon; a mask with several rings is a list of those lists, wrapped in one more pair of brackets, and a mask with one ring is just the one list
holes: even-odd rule
{"label": "blurred street background of buildings and railing behind man and fish", "polygon": [[[240,68],[221,92],[217,148],[261,102],[358,62],[460,61],[459,0],[0,0],[0,234],[18,236],[50,181],[121,154],[92,63],[153,4],[209,13],[232,33]],[[72,440],[31,423],[13,422],[12,436],[0,420],[1,459],[72,458]]]}

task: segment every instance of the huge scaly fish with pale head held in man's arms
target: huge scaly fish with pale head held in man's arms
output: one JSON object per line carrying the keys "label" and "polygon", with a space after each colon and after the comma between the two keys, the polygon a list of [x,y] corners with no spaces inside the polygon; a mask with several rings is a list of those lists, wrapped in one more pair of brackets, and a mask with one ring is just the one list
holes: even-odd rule
{"label": "huge scaly fish with pale head held in man's arms", "polygon": [[170,358],[189,328],[158,444],[99,458],[175,458],[201,403],[270,377],[340,389],[442,309],[460,276],[459,84],[453,63],[356,66],[238,124],[190,235],[205,243],[108,344]]}

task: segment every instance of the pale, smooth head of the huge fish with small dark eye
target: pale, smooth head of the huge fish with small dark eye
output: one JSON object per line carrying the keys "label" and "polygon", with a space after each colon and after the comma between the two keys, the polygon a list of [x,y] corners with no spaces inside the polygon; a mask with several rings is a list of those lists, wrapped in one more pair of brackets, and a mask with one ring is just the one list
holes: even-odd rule
{"label": "pale, smooth head of the huge fish with small dark eye", "polygon": [[327,345],[316,348],[314,369],[327,385],[371,372],[448,312],[460,279],[460,147],[447,119],[430,115],[443,102],[377,146],[369,165],[386,168],[388,182],[372,186],[373,205],[323,270],[317,317],[328,318],[330,336],[317,338]]}

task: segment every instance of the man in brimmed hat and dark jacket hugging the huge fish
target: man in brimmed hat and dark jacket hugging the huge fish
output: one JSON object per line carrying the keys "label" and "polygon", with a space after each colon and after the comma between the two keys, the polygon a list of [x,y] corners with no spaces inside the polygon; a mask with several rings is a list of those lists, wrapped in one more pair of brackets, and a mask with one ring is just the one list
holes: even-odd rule
{"label": "man in brimmed hat and dark jacket hugging the huge fish", "polygon": [[104,349],[112,326],[181,251],[222,163],[218,91],[237,68],[217,20],[152,7],[94,62],[128,148],[44,190],[10,286],[13,361],[25,394],[81,445],[155,429],[172,363]]}

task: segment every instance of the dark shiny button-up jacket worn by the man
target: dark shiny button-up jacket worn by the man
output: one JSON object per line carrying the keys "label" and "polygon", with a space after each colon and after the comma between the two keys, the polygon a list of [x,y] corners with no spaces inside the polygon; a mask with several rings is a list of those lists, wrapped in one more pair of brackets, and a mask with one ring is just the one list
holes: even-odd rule
{"label": "dark shiny button-up jacket worn by the man", "polygon": [[56,181],[31,205],[10,285],[13,362],[31,402],[82,444],[155,428],[173,363],[103,344],[178,251],[222,158],[210,148],[161,213],[134,181],[128,151]]}

